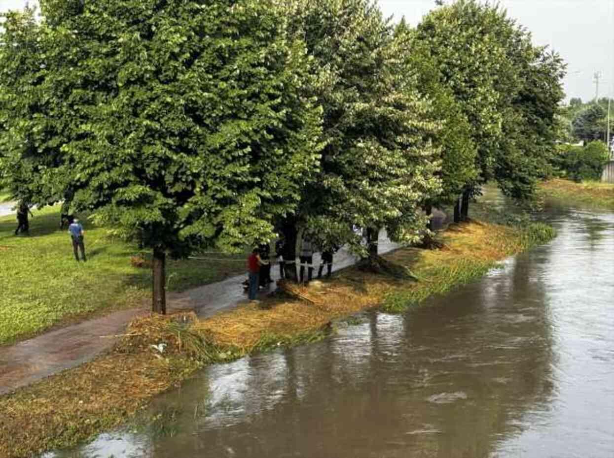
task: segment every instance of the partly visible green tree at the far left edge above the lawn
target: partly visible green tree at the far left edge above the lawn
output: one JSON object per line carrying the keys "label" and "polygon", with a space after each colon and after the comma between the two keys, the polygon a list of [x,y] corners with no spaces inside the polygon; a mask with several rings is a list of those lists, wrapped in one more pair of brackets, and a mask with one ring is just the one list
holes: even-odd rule
{"label": "partly visible green tree at the far left edge above the lawn", "polygon": [[44,170],[58,163],[45,110],[45,40],[35,10],[9,12],[0,29],[0,187],[24,204],[58,200]]}

